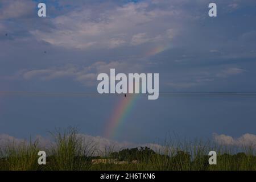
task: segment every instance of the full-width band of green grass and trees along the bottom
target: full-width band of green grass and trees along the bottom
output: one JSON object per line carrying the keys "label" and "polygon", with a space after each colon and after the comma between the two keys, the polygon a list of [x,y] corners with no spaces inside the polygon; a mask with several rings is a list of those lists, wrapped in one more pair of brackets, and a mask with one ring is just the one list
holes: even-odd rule
{"label": "full-width band of green grass and trees along the bottom", "polygon": [[[0,146],[0,170],[256,170],[255,150],[250,146],[233,148],[212,142],[164,142],[158,148],[130,148],[98,151],[93,143],[85,144],[76,129],[58,130],[47,152],[46,165],[38,164],[38,141],[8,143]],[[217,164],[209,165],[208,152],[217,152]],[[125,162],[93,164],[93,159]],[[136,161],[136,163],[133,163]]]}

